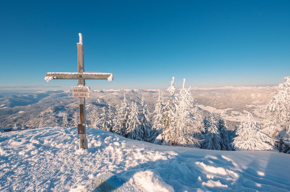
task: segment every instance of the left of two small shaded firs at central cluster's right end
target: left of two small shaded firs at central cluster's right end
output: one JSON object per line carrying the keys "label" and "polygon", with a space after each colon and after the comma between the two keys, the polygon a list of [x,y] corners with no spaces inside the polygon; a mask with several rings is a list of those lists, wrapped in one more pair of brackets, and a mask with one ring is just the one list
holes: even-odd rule
{"label": "left of two small shaded firs at central cluster's right end", "polygon": [[202,149],[221,150],[220,131],[217,128],[217,120],[213,113],[210,122],[207,123],[207,133],[204,134]]}

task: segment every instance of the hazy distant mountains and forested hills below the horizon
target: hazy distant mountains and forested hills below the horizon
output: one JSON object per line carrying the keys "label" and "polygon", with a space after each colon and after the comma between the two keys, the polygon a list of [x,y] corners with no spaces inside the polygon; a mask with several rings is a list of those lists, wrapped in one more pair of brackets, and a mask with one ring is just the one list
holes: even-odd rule
{"label": "hazy distant mountains and forested hills below the horizon", "polygon": [[[211,87],[191,88],[195,104],[200,107],[204,115],[213,111],[214,113],[226,112],[227,119],[233,126],[234,122],[245,118],[243,110],[253,113],[259,106],[266,104],[270,94],[277,90],[276,86],[266,87]],[[168,96],[166,90],[160,90],[163,96]],[[177,91],[178,92],[178,91]],[[92,114],[93,108],[100,111],[103,106],[115,107],[121,103],[124,94],[128,102],[140,103],[142,95],[145,97],[148,110],[153,112],[158,97],[158,89],[101,89],[91,90],[90,98],[86,99],[87,119],[98,114]],[[0,94],[0,126],[14,126],[14,124],[25,124],[37,127],[42,114],[54,111],[60,120],[64,115],[72,118],[77,110],[77,99],[72,98],[71,91],[37,91],[34,93]],[[257,113],[256,113],[257,114]],[[258,116],[258,115],[257,115]],[[256,120],[262,120],[255,117]]]}

